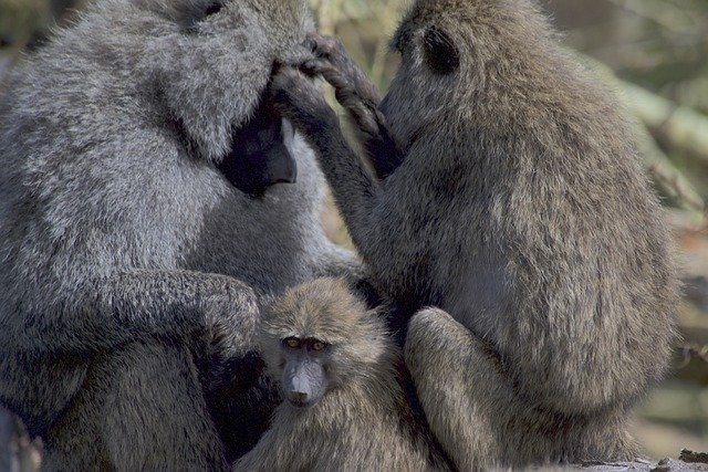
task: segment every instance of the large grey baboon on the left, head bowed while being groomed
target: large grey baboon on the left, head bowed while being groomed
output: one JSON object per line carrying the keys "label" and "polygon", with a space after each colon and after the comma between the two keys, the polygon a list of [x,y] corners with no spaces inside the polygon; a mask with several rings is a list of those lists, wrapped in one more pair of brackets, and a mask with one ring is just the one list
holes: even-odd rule
{"label": "large grey baboon on the left, head bowed while being groomed", "polygon": [[[311,149],[267,99],[310,30],[303,0],[97,0],[11,73],[0,403],[48,469],[225,468],[205,386],[253,349],[261,303],[355,266],[320,227]],[[293,159],[296,183],[274,185]],[[254,401],[248,382],[267,382],[244,359]],[[243,449],[268,424],[248,415],[229,419]]]}

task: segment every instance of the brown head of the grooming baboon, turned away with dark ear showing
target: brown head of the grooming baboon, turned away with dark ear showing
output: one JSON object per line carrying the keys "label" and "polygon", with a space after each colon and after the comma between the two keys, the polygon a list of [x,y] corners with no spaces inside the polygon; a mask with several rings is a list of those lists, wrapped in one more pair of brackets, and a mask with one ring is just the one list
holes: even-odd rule
{"label": "brown head of the grooming baboon, turned away with dark ear showing", "polygon": [[440,139],[448,149],[469,120],[503,132],[499,109],[525,99],[533,44],[548,30],[528,0],[414,2],[391,43],[402,63],[381,105],[399,145]]}

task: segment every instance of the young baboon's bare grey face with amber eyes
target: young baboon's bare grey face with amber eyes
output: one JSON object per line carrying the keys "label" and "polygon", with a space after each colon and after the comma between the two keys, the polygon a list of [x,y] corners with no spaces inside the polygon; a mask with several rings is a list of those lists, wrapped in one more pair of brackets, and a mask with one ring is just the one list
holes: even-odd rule
{"label": "young baboon's bare grey face with amber eyes", "polygon": [[293,407],[312,407],[326,392],[331,346],[320,339],[300,337],[287,337],[281,345],[283,395]]}

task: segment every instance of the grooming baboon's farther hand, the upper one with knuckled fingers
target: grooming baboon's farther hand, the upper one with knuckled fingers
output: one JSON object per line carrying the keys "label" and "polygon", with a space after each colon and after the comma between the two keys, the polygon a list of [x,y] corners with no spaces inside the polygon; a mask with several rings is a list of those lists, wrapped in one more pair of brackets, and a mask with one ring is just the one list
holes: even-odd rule
{"label": "grooming baboon's farther hand, the upper one with knuckled fingers", "polygon": [[376,111],[381,95],[361,67],[350,57],[339,38],[310,33],[305,46],[314,59],[302,64],[302,70],[322,77],[334,87],[337,102],[354,117],[364,130],[378,130]]}

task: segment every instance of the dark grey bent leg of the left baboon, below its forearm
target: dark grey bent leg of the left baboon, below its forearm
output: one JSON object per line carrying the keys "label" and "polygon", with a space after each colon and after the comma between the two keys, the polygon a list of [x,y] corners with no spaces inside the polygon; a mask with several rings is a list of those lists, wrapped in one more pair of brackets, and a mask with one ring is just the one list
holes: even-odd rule
{"label": "dark grey bent leg of the left baboon, below its forearm", "polygon": [[189,350],[158,340],[100,357],[48,445],[50,470],[226,469]]}

